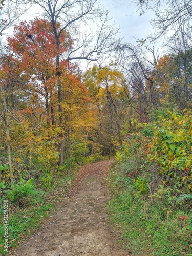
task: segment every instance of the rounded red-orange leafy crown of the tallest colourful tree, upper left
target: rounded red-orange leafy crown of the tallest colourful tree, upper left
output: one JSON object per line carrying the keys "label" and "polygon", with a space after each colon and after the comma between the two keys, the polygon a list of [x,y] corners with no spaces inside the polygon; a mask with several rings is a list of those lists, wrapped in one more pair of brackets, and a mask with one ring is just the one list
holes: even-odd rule
{"label": "rounded red-orange leafy crown of the tallest colourful tree, upper left", "polygon": [[[59,29],[59,24],[57,25]],[[53,28],[48,20],[35,19],[21,22],[20,26],[15,26],[14,36],[8,38],[9,48],[17,55],[21,61],[23,70],[37,74],[56,73],[56,55],[62,55],[72,47],[72,41],[66,31],[60,36],[60,48],[56,47]],[[62,65],[66,67],[66,61]],[[43,79],[43,78],[42,78]],[[47,78],[45,78],[47,80]]]}

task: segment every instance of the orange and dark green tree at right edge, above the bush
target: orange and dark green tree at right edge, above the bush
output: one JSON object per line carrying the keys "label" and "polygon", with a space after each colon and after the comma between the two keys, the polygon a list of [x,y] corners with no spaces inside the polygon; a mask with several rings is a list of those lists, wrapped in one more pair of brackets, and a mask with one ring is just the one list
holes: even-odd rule
{"label": "orange and dark green tree at right edge, above the bush", "polygon": [[164,55],[156,66],[155,83],[163,101],[191,108],[191,50]]}

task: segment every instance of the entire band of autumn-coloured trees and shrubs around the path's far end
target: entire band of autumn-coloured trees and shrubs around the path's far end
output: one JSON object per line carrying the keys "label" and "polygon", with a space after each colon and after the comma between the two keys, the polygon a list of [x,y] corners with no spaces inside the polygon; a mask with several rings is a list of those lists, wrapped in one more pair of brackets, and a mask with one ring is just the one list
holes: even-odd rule
{"label": "entire band of autumn-coloured trees and shrubs around the path's far end", "polygon": [[191,86],[178,71],[184,53],[162,56],[151,70],[132,63],[131,80],[113,62],[83,73],[67,58],[72,36],[56,29],[59,47],[48,20],[21,22],[1,56],[2,186],[35,177],[49,187],[74,163],[118,150],[120,162],[137,158],[127,175],[142,193],[171,202],[191,194]]}

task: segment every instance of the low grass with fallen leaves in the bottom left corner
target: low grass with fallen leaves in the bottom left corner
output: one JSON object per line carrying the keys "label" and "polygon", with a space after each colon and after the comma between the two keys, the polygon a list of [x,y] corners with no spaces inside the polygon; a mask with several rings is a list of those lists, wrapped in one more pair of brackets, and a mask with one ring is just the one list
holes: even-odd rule
{"label": "low grass with fallen leaves in the bottom left corner", "polygon": [[[11,201],[8,203],[9,207],[9,248],[17,247],[20,241],[33,233],[33,230],[48,217],[54,204],[48,202],[45,197],[47,195],[38,191],[38,195],[30,197],[27,204],[12,205]],[[25,198],[22,198],[20,203],[24,204]],[[25,202],[26,203],[26,202]],[[1,206],[2,204],[2,206]],[[3,223],[3,200],[0,200],[0,221]],[[0,225],[0,233],[4,233],[3,225]],[[4,237],[0,237],[0,244],[5,241]],[[1,254],[2,253],[2,254]],[[4,247],[0,247],[0,254],[4,255]]]}

